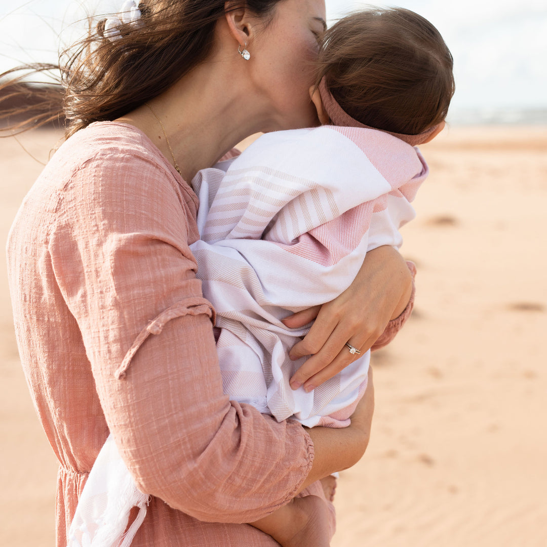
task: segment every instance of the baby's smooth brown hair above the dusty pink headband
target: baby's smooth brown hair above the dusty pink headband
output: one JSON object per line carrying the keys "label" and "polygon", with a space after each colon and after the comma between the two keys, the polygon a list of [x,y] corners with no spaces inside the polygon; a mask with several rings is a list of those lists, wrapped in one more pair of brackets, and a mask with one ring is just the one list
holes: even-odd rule
{"label": "baby's smooth brown hair above the dusty pink headband", "polygon": [[417,135],[446,118],[455,84],[452,55],[439,31],[403,8],[348,15],[325,34],[317,84],[352,118]]}

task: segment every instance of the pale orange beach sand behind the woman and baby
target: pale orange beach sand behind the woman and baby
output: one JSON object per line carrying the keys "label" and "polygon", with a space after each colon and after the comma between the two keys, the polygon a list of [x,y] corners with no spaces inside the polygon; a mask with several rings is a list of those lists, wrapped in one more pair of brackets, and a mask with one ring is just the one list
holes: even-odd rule
{"label": "pale orange beach sand behind the woman and baby", "polygon": [[[40,160],[58,133],[22,137]],[[402,252],[414,316],[373,357],[376,414],[341,474],[333,547],[547,545],[547,127],[453,127]],[[0,141],[0,229],[41,166]],[[0,269],[0,545],[54,544],[56,461],[34,414]]]}

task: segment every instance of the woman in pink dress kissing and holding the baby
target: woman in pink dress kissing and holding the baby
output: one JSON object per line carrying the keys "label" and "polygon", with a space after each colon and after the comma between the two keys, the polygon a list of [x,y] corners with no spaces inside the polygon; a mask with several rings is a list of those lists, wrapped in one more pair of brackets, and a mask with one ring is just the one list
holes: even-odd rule
{"label": "woman in pink dress kissing and holding the baby", "polygon": [[[251,133],[318,123],[307,61],[324,3],[139,8],[138,22],[103,22],[90,50],[68,63],[72,136],[26,197],[8,242],[21,360],[61,464],[57,545],[108,432],[153,494],[133,545],[274,545],[240,523],[299,492],[323,496],[318,479],[364,452],[374,392],[339,430],[277,423],[228,400],[214,311],[188,248],[199,234],[185,181]],[[295,346],[295,357],[314,355],[293,385],[318,386],[351,362],[345,342],[366,350],[396,318],[383,344],[408,316],[410,292],[393,249],[370,253]],[[363,316],[364,324],[354,319]]]}

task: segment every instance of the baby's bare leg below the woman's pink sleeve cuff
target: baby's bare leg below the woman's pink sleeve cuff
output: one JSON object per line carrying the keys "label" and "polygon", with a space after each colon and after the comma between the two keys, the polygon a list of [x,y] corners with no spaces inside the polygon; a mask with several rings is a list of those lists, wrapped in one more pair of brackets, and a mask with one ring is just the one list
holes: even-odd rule
{"label": "baby's bare leg below the woman's pink sleeve cuff", "polygon": [[294,498],[251,525],[283,547],[329,547],[329,510],[318,496]]}

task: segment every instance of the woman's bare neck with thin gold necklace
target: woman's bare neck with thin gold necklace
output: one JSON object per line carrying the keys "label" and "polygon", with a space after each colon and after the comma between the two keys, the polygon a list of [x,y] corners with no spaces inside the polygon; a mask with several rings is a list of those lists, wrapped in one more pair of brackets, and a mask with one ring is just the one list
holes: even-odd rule
{"label": "woman's bare neck with thin gold necklace", "polygon": [[190,182],[197,171],[214,165],[243,138],[270,125],[264,115],[267,105],[251,92],[237,68],[226,60],[202,63],[148,101],[163,129],[146,105],[119,121],[141,129],[174,164],[170,144],[183,178]]}

